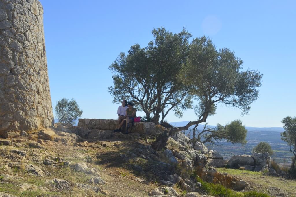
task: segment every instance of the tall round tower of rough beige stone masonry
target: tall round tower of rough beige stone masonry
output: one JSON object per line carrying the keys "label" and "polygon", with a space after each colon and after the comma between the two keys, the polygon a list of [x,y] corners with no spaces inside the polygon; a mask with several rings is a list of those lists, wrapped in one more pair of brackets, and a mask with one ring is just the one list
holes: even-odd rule
{"label": "tall round tower of rough beige stone masonry", "polygon": [[0,0],[0,136],[54,123],[38,0]]}

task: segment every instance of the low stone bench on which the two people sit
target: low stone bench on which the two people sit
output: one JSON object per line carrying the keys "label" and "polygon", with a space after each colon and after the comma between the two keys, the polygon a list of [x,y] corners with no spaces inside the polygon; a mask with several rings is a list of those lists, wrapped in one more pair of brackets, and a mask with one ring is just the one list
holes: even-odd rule
{"label": "low stone bench on which the two people sit", "polygon": [[[88,129],[100,129],[100,130],[114,130],[117,128],[118,120],[105,120],[105,119],[78,119],[78,126]],[[159,129],[155,128],[155,124],[152,122],[135,122],[131,133],[139,133],[144,135],[155,135],[160,133]]]}

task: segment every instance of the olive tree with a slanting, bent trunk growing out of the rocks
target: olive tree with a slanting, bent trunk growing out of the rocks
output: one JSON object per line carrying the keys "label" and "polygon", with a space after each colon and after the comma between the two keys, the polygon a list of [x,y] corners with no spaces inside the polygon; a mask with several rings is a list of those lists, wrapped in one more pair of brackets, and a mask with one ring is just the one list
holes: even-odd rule
{"label": "olive tree with a slanting, bent trunk growing out of the rocks", "polygon": [[250,104],[258,98],[257,88],[261,86],[262,74],[255,70],[243,70],[242,63],[228,48],[217,50],[205,36],[194,39],[178,79],[185,86],[190,86],[190,94],[199,100],[197,120],[161,134],[152,144],[153,148],[160,150],[166,146],[169,136],[206,122],[208,116],[215,114],[213,109],[217,103],[239,108],[242,115],[248,113]]}

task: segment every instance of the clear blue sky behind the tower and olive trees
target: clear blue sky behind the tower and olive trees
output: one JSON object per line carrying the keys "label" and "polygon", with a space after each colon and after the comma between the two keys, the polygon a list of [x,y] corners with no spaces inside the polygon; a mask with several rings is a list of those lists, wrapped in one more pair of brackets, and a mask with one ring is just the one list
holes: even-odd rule
{"label": "clear blue sky behind the tower and olive trees", "polygon": [[[296,116],[296,1],[40,1],[53,106],[62,97],[75,98],[82,118],[116,119],[109,65],[131,45],[147,46],[152,29],[163,26],[173,33],[186,27],[193,38],[209,36],[217,48],[241,57],[245,69],[264,74],[248,115],[218,106],[210,125],[241,119],[246,126],[282,126],[285,116]],[[166,119],[196,117],[187,110],[183,118],[171,113]]]}

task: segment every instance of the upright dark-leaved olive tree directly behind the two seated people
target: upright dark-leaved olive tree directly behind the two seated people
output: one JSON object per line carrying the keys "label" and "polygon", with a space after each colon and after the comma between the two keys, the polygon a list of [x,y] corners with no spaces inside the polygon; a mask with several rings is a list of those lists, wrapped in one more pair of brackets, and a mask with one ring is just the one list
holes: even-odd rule
{"label": "upright dark-leaved olive tree directly behind the two seated people", "polygon": [[110,65],[114,84],[108,90],[113,102],[129,98],[148,121],[157,124],[161,115],[162,124],[170,110],[181,117],[183,110],[192,108],[189,86],[177,79],[186,64],[191,34],[165,28],[153,29],[152,34],[154,40],[147,47],[135,44]]}

